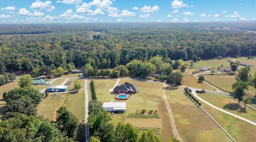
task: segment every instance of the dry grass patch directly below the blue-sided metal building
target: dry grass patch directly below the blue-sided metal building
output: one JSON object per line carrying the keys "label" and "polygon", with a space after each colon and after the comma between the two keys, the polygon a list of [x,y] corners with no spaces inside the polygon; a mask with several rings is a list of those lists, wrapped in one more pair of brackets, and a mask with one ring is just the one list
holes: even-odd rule
{"label": "dry grass patch directly below the blue-sided metal building", "polygon": [[[49,93],[47,98],[44,98],[44,101],[40,102],[36,107],[38,115],[44,115],[44,118],[49,119],[49,121],[54,120],[56,111],[64,103],[66,98],[65,93],[58,93],[57,96],[52,96],[54,93]],[[60,96],[60,100],[56,98]],[[55,98],[54,98],[55,97]]]}

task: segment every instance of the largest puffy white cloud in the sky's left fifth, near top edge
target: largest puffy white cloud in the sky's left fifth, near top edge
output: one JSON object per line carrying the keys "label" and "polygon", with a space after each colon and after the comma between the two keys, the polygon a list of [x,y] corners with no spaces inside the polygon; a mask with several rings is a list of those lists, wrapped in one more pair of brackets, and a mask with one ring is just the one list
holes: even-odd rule
{"label": "largest puffy white cloud in the sky's left fifth, near top edge", "polygon": [[51,6],[51,1],[45,1],[42,2],[40,0],[36,0],[36,2],[33,2],[29,8],[31,8],[33,11],[43,10],[47,9],[47,11],[52,11],[55,9],[55,6]]}

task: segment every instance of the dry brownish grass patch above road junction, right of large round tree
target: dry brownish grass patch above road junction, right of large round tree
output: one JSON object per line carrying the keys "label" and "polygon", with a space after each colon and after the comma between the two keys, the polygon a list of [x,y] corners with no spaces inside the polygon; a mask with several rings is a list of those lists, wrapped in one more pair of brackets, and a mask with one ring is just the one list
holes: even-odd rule
{"label": "dry brownish grass patch above road junction, right of large round tree", "polygon": [[189,86],[189,87],[194,87],[194,88],[216,91],[216,89],[205,84],[204,82],[203,83],[199,82],[198,79],[195,78],[194,76],[191,76],[191,74],[188,74],[187,72],[182,72],[182,74],[184,75],[183,80],[182,80],[183,86]]}

